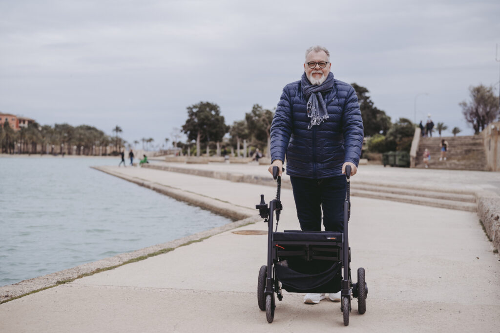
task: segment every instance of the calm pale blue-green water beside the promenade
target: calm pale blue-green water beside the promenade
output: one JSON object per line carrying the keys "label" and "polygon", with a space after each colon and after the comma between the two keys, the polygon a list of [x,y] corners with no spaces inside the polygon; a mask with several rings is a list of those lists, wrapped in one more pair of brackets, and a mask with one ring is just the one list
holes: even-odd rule
{"label": "calm pale blue-green water beside the promenade", "polygon": [[0,285],[229,223],[89,168],[118,159],[0,158]]}

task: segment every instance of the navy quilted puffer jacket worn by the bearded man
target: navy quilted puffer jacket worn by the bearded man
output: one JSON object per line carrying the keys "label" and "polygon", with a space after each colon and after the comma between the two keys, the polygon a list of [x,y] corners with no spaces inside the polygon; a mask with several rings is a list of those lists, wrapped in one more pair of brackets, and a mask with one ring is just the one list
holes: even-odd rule
{"label": "navy quilted puffer jacket worn by the bearded man", "polygon": [[300,81],[283,89],[271,124],[271,161],[284,161],[286,155],[290,176],[339,176],[344,162],[359,163],[363,123],[354,88],[334,79],[333,89],[322,96],[328,119],[308,130],[310,118]]}

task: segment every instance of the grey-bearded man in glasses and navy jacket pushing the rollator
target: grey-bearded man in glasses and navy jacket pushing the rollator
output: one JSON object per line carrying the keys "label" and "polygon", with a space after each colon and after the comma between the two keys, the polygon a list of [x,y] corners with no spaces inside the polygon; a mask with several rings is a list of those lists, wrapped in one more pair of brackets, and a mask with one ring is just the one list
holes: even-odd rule
{"label": "grey-bearded man in glasses and navy jacket pushing the rollator", "polygon": [[[305,52],[304,73],[287,84],[271,125],[272,167],[281,169],[286,155],[300,228],[343,231],[345,166],[356,174],[363,124],[354,89],[333,78],[329,52],[315,46]],[[308,293],[305,303],[319,303],[324,294]],[[329,294],[340,301],[340,292]]]}

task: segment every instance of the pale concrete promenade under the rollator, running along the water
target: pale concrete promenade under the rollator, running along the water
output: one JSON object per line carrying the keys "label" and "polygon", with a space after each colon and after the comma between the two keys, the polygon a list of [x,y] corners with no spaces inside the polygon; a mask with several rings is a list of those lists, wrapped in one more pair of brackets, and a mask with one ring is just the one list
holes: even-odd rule
{"label": "pale concrete promenade under the rollator, running along the water", "polygon": [[[183,166],[266,172],[256,165]],[[260,194],[266,202],[275,195],[269,186],[149,168],[103,171],[174,195],[205,198],[222,210],[232,206],[242,215],[256,216]],[[492,191],[500,184],[497,173],[361,166],[351,186],[373,179]],[[291,190],[282,189],[281,200],[278,229],[296,229]],[[256,284],[267,236],[233,232],[266,231],[266,224],[256,222],[5,302],[0,332],[500,331],[500,257],[476,213],[355,196],[351,202],[353,280],[357,267],[364,267],[368,297],[363,315],[352,301],[348,327],[339,303],[307,305],[301,294],[287,292],[276,304],[274,321],[266,322]]]}

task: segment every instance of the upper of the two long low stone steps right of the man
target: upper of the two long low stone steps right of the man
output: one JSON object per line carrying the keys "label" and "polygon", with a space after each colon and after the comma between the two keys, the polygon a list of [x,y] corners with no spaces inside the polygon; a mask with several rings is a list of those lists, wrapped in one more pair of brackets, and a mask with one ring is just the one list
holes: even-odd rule
{"label": "upper of the two long low stone steps right of the man", "polygon": [[458,194],[458,193],[448,193],[439,191],[416,190],[416,189],[408,189],[400,187],[386,187],[386,186],[371,185],[367,183],[356,183],[356,190],[358,189],[370,192],[390,193],[390,194],[399,194],[406,196],[475,203],[475,196],[472,194]]}

